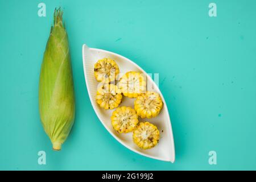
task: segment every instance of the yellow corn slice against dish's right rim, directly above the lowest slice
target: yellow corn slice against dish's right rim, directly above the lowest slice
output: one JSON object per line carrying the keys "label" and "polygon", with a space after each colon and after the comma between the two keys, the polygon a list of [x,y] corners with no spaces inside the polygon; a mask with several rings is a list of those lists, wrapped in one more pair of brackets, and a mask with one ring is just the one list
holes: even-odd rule
{"label": "yellow corn slice against dish's right rim, directly above the lowest slice", "polygon": [[147,91],[138,96],[134,101],[134,109],[141,118],[156,117],[163,107],[163,102],[158,93]]}

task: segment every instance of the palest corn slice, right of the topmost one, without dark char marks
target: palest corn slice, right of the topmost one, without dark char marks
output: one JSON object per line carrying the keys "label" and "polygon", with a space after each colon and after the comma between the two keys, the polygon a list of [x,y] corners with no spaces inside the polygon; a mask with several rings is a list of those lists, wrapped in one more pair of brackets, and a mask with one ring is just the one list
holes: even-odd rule
{"label": "palest corn slice, right of the topmost one, without dark char marks", "polygon": [[142,73],[131,71],[121,77],[118,86],[124,96],[134,98],[146,92],[146,79]]}

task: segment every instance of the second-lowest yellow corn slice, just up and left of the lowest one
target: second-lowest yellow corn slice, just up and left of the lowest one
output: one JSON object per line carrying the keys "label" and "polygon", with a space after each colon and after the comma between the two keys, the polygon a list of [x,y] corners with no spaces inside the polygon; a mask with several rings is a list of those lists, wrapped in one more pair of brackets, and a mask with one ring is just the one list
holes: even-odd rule
{"label": "second-lowest yellow corn slice, just up and left of the lowest one", "polygon": [[112,126],[118,133],[129,133],[138,124],[138,115],[131,107],[118,107],[111,117]]}

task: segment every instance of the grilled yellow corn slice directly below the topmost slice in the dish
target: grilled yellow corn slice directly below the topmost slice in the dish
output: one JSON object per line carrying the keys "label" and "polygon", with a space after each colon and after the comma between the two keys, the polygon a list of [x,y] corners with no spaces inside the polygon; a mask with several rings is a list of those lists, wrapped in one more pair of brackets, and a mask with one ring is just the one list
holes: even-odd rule
{"label": "grilled yellow corn slice directly below the topmost slice in the dish", "polygon": [[114,109],[122,101],[121,90],[116,85],[101,85],[96,94],[96,102],[104,109]]}

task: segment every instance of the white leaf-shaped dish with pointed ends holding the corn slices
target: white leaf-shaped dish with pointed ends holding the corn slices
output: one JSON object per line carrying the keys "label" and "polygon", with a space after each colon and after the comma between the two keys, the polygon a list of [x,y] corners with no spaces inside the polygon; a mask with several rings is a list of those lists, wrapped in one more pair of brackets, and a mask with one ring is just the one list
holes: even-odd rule
{"label": "white leaf-shaped dish with pointed ends holding the corn slices", "polygon": [[[128,71],[138,71],[147,75],[146,72],[144,72],[141,67],[139,67],[137,64],[127,59],[126,57],[102,49],[89,48],[85,44],[82,46],[82,60],[84,64],[84,75],[88,94],[93,109],[95,110],[102,125],[105,126],[106,130],[108,130],[109,133],[112,134],[113,137],[118,140],[118,142],[120,142],[121,144],[123,144],[123,146],[129,148],[130,150],[137,152],[138,154],[147,156],[148,158],[164,160],[173,163],[175,160],[175,149],[170,115],[168,113],[167,105],[166,102],[164,101],[162,93],[160,92],[158,86],[155,84],[155,82],[152,80],[150,76],[147,75],[147,90],[153,90],[154,88],[154,92],[160,94],[163,100],[163,109],[160,111],[160,114],[157,117],[151,119],[141,119],[139,117],[139,121],[148,121],[158,127],[160,131],[160,140],[158,145],[156,145],[154,148],[142,150],[136,144],[133,143],[132,133],[117,133],[117,131],[113,129],[110,119],[113,110],[105,110],[98,106],[96,102],[96,92],[99,82],[97,82],[96,78],[94,77],[94,64],[99,59],[103,59],[104,57],[108,57],[110,59],[115,60],[121,72],[119,73],[119,75],[124,74]],[[123,96],[122,104],[119,106],[134,107],[134,99]]]}

